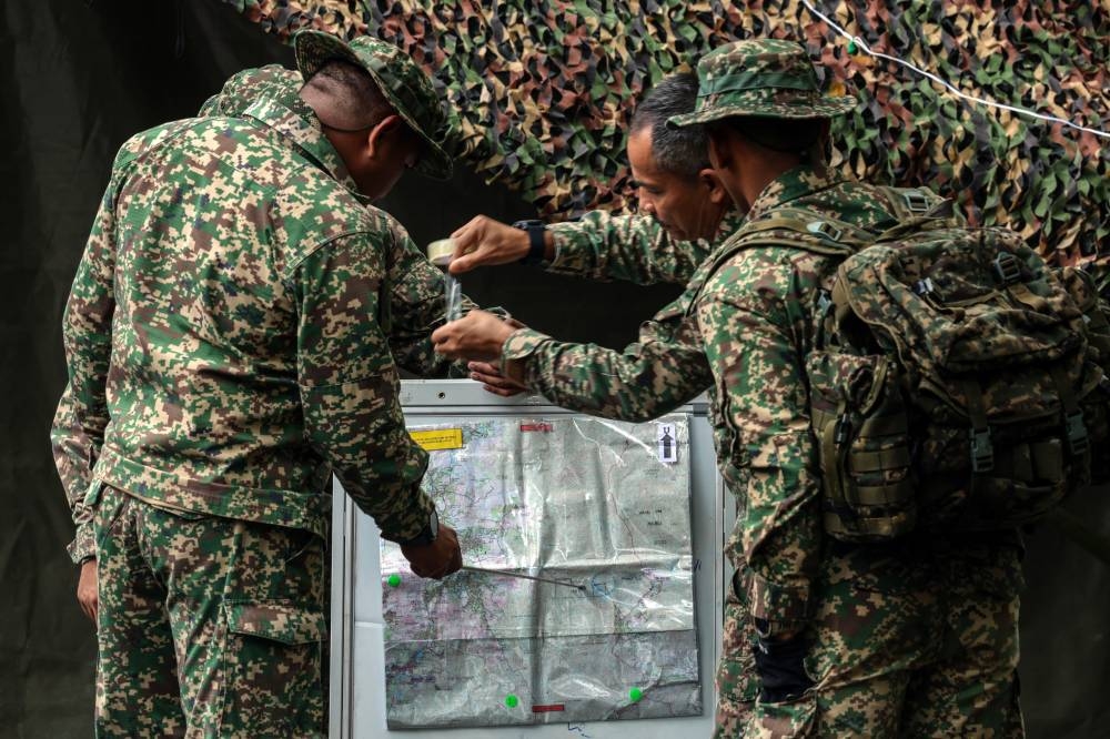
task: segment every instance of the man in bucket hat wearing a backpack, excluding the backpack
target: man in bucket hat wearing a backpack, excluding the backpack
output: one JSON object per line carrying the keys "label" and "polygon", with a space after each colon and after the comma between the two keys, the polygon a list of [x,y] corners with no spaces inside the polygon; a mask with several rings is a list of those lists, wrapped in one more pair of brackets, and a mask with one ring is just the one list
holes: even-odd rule
{"label": "man in bucket hat wearing a backpack, excluding the backpack", "polygon": [[[708,126],[714,166],[748,209],[734,239],[784,207],[872,232],[907,219],[897,191],[799,154],[855,102],[819,95],[804,49],[731,43],[704,57],[698,77],[697,110],[672,122]],[[746,736],[1020,736],[1017,534],[860,545],[824,533],[805,366],[838,260],[774,234],[715,260],[694,305],[718,462],[746,498],[729,544],[759,635],[761,695]]]}

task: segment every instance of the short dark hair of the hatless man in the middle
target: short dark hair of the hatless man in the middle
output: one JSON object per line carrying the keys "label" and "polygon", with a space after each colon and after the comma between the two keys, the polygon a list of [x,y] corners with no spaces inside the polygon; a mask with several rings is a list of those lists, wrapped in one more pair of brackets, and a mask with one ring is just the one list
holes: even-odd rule
{"label": "short dark hair of the hatless man in the middle", "polygon": [[700,125],[667,126],[672,115],[694,112],[697,74],[676,72],[652,88],[636,107],[629,134],[650,126],[652,156],[656,165],[672,174],[694,179],[709,166],[709,140]]}

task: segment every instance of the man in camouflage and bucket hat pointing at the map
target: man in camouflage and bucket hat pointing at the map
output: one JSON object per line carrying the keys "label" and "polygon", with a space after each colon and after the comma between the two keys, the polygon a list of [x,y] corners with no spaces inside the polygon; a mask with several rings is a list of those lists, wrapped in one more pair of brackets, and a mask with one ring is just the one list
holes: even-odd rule
{"label": "man in camouflage and bucket hat pointing at the map", "polygon": [[450,173],[444,113],[393,47],[295,48],[300,94],[124,144],[67,305],[52,441],[99,579],[99,735],[322,736],[333,470],[417,575],[461,566],[391,354],[442,366],[417,348],[442,280],[400,273],[369,205]]}

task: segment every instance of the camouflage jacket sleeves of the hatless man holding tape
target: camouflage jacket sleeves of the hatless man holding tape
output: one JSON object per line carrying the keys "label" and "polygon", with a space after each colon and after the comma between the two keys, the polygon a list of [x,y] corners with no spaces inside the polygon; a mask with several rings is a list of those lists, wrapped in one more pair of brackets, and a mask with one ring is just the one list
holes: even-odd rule
{"label": "camouflage jacket sleeves of the hatless man holding tape", "polygon": [[[736,211],[727,214],[719,230],[722,237],[735,231],[743,220]],[[684,271],[698,265],[699,257],[709,251],[706,242],[669,240],[658,223],[645,216],[598,215],[567,225],[575,227],[556,226],[562,231],[557,239],[564,249],[573,245],[576,255],[572,259],[566,256],[572,252],[564,251],[562,267],[571,271],[567,265],[573,264],[576,273],[604,271],[610,277],[643,283],[668,274],[680,279]],[[591,225],[599,230],[591,233]],[[618,246],[614,236],[629,241]],[[606,244],[610,247],[606,249]],[[658,249],[658,253],[653,249]],[[637,252],[636,256],[628,256]],[[599,256],[606,253],[622,256],[602,261]],[[697,322],[689,315],[690,301],[708,266],[707,261],[700,262],[693,270],[686,291],[645,322],[639,341],[623,352],[557,342],[537,331],[522,328],[502,347],[503,362],[523,363],[528,388],[566,408],[626,421],[646,421],[667,413],[712,384]]]}

